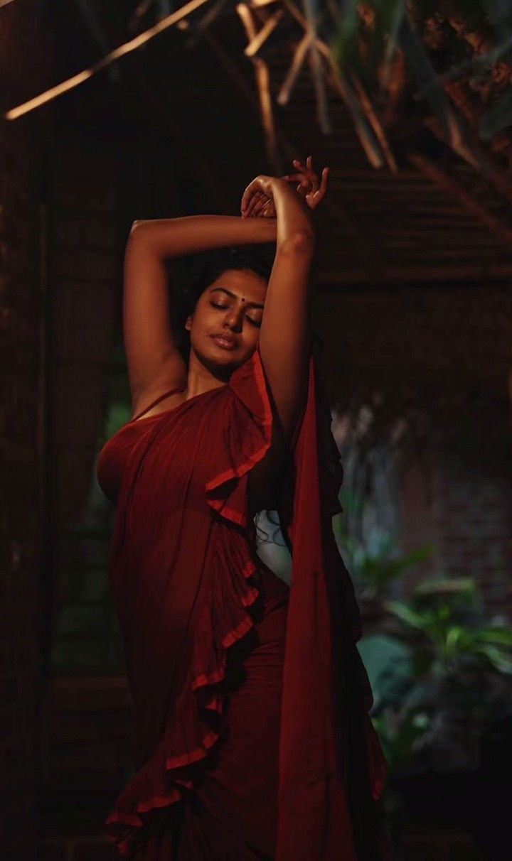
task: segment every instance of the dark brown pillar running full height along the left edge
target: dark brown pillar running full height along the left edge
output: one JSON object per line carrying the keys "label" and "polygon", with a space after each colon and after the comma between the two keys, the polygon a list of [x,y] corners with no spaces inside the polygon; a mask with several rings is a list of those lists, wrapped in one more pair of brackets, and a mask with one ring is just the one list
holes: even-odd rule
{"label": "dark brown pillar running full height along the left edge", "polygon": [[[1,108],[34,95],[50,69],[36,3],[0,15]],[[0,846],[34,858],[41,688],[44,264],[41,162],[48,114],[0,126]]]}

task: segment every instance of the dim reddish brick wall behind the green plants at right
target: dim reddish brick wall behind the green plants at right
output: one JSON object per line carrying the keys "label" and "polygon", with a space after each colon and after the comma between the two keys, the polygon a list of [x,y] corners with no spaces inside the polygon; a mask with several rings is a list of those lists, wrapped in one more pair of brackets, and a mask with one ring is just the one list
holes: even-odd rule
{"label": "dim reddish brick wall behind the green plants at right", "polygon": [[[428,464],[428,474],[425,472]],[[464,456],[432,450],[402,482],[402,539],[407,549],[437,551],[412,573],[477,580],[490,615],[512,617],[512,482],[506,446],[490,457],[475,444]]]}

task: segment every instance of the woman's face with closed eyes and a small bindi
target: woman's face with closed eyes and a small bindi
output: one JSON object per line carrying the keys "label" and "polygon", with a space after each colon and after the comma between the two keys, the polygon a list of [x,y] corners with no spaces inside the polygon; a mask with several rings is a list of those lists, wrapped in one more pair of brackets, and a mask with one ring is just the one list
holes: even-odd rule
{"label": "woman's face with closed eyes and a small bindi", "polygon": [[205,367],[233,369],[253,355],[265,294],[265,279],[250,269],[227,269],[204,290],[185,329]]}

